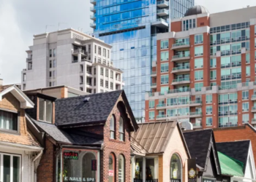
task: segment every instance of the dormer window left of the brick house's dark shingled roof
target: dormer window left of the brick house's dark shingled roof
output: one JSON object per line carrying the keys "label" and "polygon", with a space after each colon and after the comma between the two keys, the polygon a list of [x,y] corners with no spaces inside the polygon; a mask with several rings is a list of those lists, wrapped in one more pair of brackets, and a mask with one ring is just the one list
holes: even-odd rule
{"label": "dormer window left of the brick house's dark shingled roof", "polygon": [[39,120],[52,123],[53,119],[53,102],[39,98]]}

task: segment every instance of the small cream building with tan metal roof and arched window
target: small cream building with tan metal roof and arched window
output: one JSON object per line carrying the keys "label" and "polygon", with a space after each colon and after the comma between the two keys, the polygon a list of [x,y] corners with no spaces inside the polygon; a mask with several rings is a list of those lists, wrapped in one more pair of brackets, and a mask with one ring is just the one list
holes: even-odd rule
{"label": "small cream building with tan metal roof and arched window", "polygon": [[132,133],[133,182],[187,182],[187,145],[177,122],[138,124]]}

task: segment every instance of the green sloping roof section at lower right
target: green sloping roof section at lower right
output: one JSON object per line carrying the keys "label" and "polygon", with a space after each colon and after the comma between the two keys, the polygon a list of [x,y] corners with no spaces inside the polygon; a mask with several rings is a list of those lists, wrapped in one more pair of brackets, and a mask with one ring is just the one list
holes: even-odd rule
{"label": "green sloping roof section at lower right", "polygon": [[220,162],[220,168],[222,175],[236,175],[244,177],[243,168],[244,163],[240,162],[232,157],[228,157],[218,151],[218,157]]}

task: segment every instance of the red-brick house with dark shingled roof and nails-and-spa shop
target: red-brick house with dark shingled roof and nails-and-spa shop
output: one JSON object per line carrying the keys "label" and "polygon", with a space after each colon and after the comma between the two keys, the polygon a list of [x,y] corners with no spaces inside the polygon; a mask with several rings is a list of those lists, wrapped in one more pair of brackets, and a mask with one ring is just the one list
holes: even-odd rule
{"label": "red-brick house with dark shingled roof and nails-and-spa shop", "polygon": [[56,100],[38,93],[29,97],[37,108],[28,111],[28,123],[37,126],[38,138],[45,133],[39,139],[45,151],[38,182],[130,181],[130,133],[138,124],[123,90]]}

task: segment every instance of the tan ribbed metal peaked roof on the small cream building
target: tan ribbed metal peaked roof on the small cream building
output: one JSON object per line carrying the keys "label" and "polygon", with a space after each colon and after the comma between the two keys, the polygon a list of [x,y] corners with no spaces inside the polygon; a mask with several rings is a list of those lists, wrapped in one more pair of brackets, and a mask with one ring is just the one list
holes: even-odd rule
{"label": "tan ribbed metal peaked roof on the small cream building", "polygon": [[[132,132],[131,135],[131,146],[137,154],[157,154],[165,152],[167,143],[170,141],[170,136],[176,126],[184,141],[178,122],[146,122],[138,124],[138,126],[139,129],[137,132]],[[185,141],[184,146],[189,155]]]}

